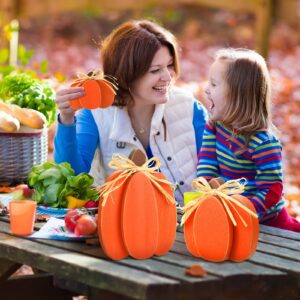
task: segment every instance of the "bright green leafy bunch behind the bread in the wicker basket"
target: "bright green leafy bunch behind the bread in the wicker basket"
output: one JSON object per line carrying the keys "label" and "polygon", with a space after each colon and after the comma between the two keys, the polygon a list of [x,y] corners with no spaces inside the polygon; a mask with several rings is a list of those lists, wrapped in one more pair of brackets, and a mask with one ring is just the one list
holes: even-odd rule
{"label": "bright green leafy bunch behind the bread in the wicker basket", "polygon": [[27,73],[11,73],[0,81],[0,98],[8,103],[35,109],[46,116],[48,126],[56,117],[55,93],[46,81]]}

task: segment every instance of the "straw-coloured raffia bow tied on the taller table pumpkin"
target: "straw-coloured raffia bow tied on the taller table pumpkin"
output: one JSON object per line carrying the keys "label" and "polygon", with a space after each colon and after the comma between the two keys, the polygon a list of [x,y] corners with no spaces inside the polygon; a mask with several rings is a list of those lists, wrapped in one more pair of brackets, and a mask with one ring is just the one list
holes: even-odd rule
{"label": "straw-coloured raffia bow tied on the taller table pumpkin", "polygon": [[[149,167],[151,165],[151,167]],[[157,157],[147,160],[142,166],[137,166],[131,159],[121,154],[113,154],[108,166],[114,170],[122,171],[115,179],[105,182],[100,187],[100,196],[103,197],[102,207],[105,206],[108,196],[114,190],[120,188],[126,180],[136,172],[142,172],[152,184],[166,197],[167,201],[176,204],[175,199],[161,187],[161,183],[171,184],[168,180],[159,179],[153,175],[160,168],[160,161]],[[119,183],[117,183],[119,181]]]}

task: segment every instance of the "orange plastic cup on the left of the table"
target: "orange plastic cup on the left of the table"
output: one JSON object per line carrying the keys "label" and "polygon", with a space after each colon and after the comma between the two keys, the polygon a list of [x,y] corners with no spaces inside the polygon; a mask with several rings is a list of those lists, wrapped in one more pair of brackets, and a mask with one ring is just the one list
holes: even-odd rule
{"label": "orange plastic cup on the left of the table", "polygon": [[36,201],[12,200],[9,202],[10,230],[16,235],[29,235],[33,232],[36,214]]}

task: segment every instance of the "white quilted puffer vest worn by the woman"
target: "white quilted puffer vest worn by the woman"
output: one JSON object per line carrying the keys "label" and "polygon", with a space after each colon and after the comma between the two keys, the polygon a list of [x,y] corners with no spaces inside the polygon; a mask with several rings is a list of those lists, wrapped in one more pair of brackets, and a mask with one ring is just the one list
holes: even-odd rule
{"label": "white quilted puffer vest worn by the woman", "polygon": [[[189,92],[174,87],[169,101],[156,105],[151,123],[151,151],[161,161],[161,172],[170,182],[178,183],[175,197],[179,204],[183,204],[183,192],[191,190],[191,182],[196,178],[195,101]],[[100,185],[114,171],[108,167],[113,153],[129,156],[134,149],[145,149],[135,136],[127,108],[95,109],[92,114],[100,145],[90,173]]]}

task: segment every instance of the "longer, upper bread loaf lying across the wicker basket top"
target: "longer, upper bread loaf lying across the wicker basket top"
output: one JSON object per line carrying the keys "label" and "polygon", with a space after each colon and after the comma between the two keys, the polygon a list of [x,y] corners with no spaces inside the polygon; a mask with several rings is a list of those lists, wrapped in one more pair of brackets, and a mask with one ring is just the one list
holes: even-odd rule
{"label": "longer, upper bread loaf lying across the wicker basket top", "polygon": [[18,105],[0,101],[0,111],[4,111],[18,119],[22,125],[34,129],[42,129],[46,124],[46,117],[37,110],[22,108]]}

